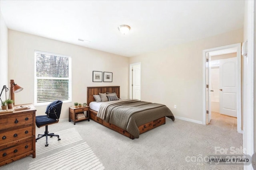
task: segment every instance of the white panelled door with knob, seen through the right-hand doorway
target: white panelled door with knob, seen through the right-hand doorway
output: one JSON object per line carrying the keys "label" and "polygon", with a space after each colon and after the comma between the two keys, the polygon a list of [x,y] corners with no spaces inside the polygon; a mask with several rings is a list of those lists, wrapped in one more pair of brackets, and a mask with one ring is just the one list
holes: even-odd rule
{"label": "white panelled door with knob, seen through the right-hand doorway", "polygon": [[220,60],[220,113],[237,117],[237,57]]}

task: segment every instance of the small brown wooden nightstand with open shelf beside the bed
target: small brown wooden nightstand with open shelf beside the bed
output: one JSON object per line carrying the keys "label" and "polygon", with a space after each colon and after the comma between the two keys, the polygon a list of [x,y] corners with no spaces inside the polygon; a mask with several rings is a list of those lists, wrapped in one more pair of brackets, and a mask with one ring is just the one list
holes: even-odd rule
{"label": "small brown wooden nightstand with open shelf beside the bed", "polygon": [[[74,121],[74,125],[77,121],[90,121],[89,108],[89,106],[82,106],[78,108],[69,107],[68,121]],[[84,115],[84,111],[86,111],[87,116]]]}

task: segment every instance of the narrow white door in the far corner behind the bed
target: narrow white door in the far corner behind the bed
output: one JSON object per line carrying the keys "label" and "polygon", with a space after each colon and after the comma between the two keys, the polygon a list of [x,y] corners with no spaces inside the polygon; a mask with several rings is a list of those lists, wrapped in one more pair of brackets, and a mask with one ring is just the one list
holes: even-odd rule
{"label": "narrow white door in the far corner behind the bed", "polygon": [[130,98],[141,100],[140,96],[140,71],[141,63],[130,64]]}

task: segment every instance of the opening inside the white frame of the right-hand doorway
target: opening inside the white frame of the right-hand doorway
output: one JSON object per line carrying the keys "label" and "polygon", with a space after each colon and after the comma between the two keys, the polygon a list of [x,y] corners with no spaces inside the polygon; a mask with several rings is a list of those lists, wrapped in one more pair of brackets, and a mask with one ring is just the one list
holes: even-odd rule
{"label": "opening inside the white frame of the right-hand doorway", "polygon": [[237,129],[236,48],[213,51],[210,55],[211,121],[209,124]]}

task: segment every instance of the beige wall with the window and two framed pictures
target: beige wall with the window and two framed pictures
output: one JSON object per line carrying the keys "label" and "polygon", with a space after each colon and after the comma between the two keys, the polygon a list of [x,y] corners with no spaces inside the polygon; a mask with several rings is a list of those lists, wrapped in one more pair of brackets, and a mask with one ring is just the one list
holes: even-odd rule
{"label": "beige wall with the window and two framed pictures", "polygon": [[[120,86],[120,97],[128,98],[129,58],[72,45],[18,31],[8,31],[9,79],[24,90],[15,94],[15,104],[34,103],[34,50],[72,57],[72,102],[62,105],[61,119],[68,107],[86,102],[87,86]],[[113,82],[92,82],[92,71],[113,72]],[[42,115],[46,106],[36,106]]]}

